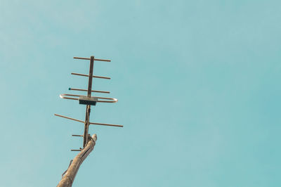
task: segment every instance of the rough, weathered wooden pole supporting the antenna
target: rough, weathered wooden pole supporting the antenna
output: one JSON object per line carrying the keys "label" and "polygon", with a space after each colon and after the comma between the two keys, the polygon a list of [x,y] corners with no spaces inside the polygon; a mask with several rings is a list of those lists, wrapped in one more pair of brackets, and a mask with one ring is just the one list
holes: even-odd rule
{"label": "rough, weathered wooden pole supporting the antenna", "polygon": [[91,153],[93,150],[93,146],[96,145],[97,136],[93,134],[93,136],[89,136],[89,140],[87,145],[81,150],[81,152],[74,157],[73,162],[71,163],[70,167],[68,167],[67,172],[61,179],[60,183],[58,183],[57,187],[71,187],[72,183],[75,179],[75,176],[78,172],[78,169],[82,162],[86,159],[86,157]]}

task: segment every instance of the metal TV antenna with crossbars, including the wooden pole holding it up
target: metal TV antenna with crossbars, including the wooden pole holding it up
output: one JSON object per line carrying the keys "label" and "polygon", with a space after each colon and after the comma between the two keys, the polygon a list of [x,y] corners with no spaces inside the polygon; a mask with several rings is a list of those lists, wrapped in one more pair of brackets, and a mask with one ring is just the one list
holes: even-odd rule
{"label": "metal TV antenna with crossbars, including the wooden pole holding it up", "polygon": [[90,124],[110,126],[110,127],[123,127],[123,125],[120,125],[120,124],[104,124],[104,123],[90,122],[91,105],[96,105],[96,103],[116,103],[118,101],[117,98],[91,96],[92,92],[110,93],[110,91],[93,90],[92,82],[93,82],[93,78],[110,79],[110,77],[101,77],[101,76],[93,75],[94,61],[111,62],[111,60],[98,59],[98,58],[94,58],[94,56],[91,56],[91,58],[74,57],[74,59],[90,60],[89,75],[84,75],[84,74],[79,74],[79,73],[74,73],[74,72],[71,73],[71,75],[89,77],[88,89],[69,88],[69,90],[86,91],[87,95],[83,96],[83,95],[63,93],[63,94],[60,94],[60,98],[77,100],[77,101],[79,101],[79,104],[86,105],[86,117],[85,117],[85,120],[82,121],[82,120],[77,120],[72,117],[67,117],[64,115],[55,114],[55,116],[63,117],[68,120],[74,120],[76,122],[84,123],[84,134],[83,135],[72,134],[72,136],[83,137],[83,148],[72,150],[72,151],[81,151],[81,152],[74,158],[74,160],[72,160],[73,162],[72,161],[70,162],[70,166],[63,173],[63,179],[60,181],[60,183],[58,183],[58,186],[72,186],[72,183],[74,181],[74,178],[78,172],[78,169],[79,169],[81,163],[85,160],[85,158],[89,155],[89,153],[91,153],[91,150],[93,150],[93,146],[95,146],[95,144],[96,144],[97,136],[96,136],[96,134],[93,134],[93,136],[90,136],[90,134],[89,134]]}

